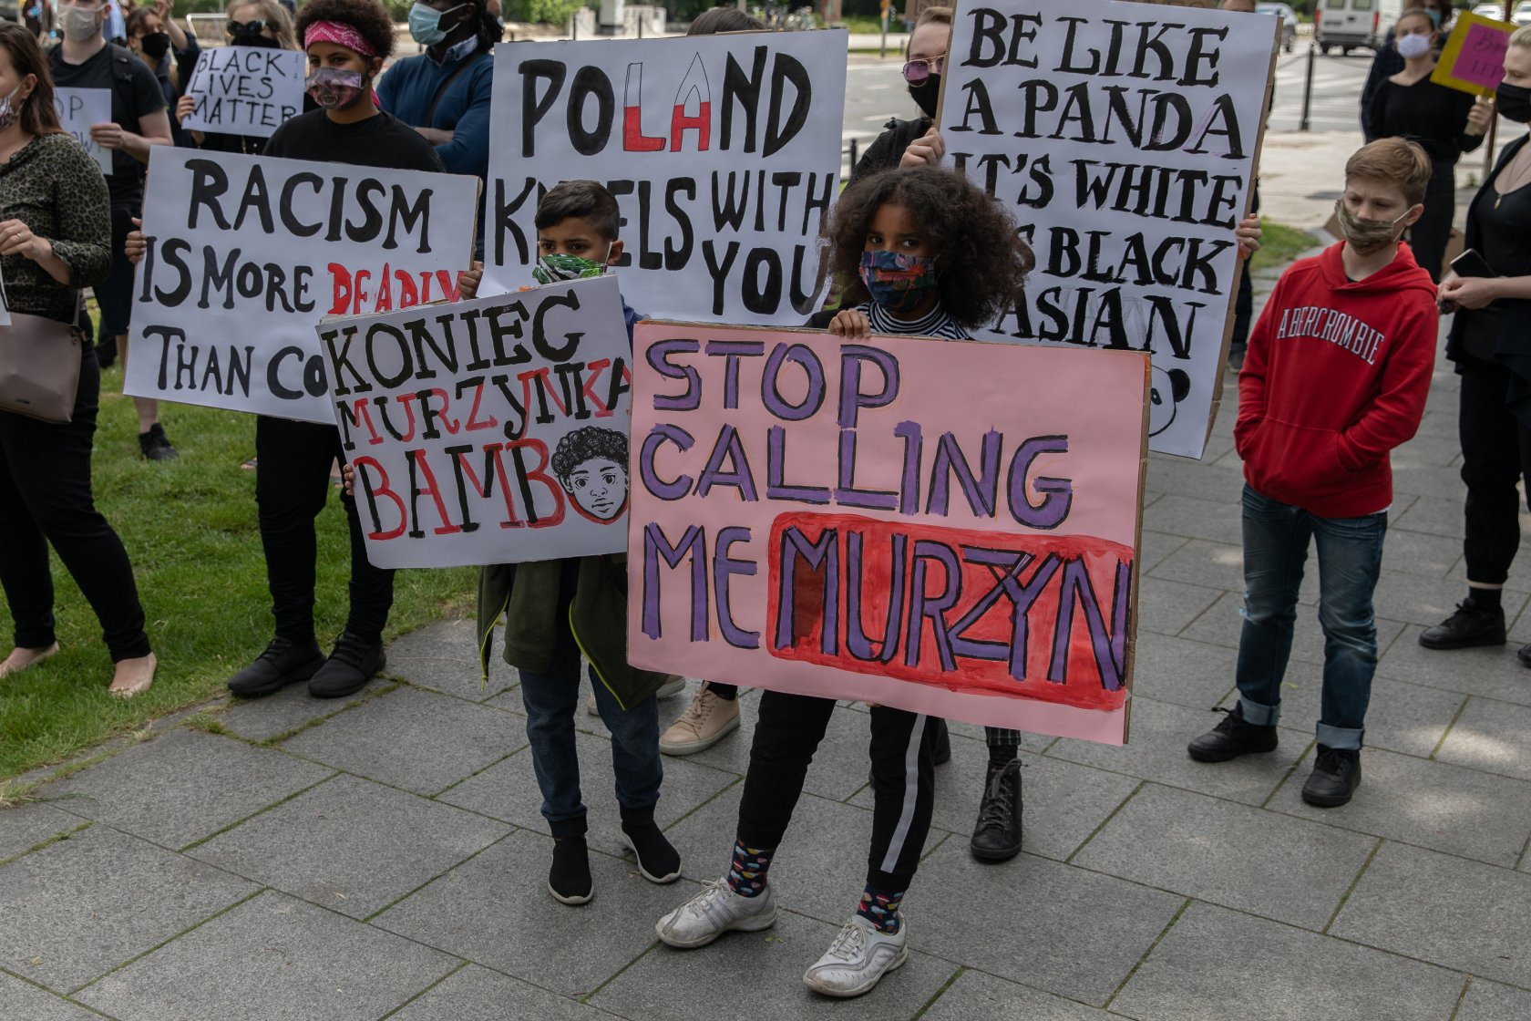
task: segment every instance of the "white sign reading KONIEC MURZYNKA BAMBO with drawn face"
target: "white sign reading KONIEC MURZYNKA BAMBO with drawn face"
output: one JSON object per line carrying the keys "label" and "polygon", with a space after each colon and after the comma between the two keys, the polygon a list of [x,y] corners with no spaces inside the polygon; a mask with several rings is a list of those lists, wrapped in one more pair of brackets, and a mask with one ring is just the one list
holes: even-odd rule
{"label": "white sign reading KONIEC MURZYNKA BAMBO with drawn face", "polygon": [[369,562],[626,548],[632,373],[614,277],[317,331]]}

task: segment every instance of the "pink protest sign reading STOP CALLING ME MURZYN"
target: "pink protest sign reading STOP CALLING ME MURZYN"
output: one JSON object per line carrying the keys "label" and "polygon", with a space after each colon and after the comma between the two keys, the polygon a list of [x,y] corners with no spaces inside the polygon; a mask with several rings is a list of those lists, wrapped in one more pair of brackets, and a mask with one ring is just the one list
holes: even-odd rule
{"label": "pink protest sign reading STOP CALLING ME MURZYN", "polygon": [[1147,355],[640,323],[634,364],[634,666],[1125,739]]}

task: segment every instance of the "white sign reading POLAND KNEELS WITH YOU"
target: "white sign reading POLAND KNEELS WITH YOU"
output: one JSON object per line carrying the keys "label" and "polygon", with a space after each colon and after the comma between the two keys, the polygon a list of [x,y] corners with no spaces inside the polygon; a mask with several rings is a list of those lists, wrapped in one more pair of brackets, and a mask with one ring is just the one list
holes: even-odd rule
{"label": "white sign reading POLAND KNEELS WITH YOU", "polygon": [[496,46],[485,286],[531,282],[537,201],[589,179],[622,208],[632,308],[801,325],[844,98],[844,31]]}

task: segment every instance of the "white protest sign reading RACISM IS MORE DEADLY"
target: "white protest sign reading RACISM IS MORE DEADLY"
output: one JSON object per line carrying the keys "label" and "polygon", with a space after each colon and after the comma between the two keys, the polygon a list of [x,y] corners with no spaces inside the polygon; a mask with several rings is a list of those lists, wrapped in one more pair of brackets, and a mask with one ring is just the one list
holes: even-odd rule
{"label": "white protest sign reading RACISM IS MORE DEADLY", "polygon": [[155,145],[122,389],[332,422],[314,326],[455,298],[478,179]]}

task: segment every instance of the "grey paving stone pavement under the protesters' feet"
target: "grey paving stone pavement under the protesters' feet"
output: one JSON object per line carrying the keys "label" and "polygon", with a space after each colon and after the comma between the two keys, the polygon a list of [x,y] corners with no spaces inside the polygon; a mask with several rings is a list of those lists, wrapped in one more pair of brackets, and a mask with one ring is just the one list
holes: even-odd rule
{"label": "grey paving stone pavement under the protesters' feet", "polygon": [[[799,975],[860,889],[862,707],[836,710],[813,764],[773,871],[778,926],[677,952],[654,920],[726,866],[758,695],[736,736],[666,762],[674,886],[623,859],[609,744],[582,706],[597,895],[568,908],[545,889],[516,675],[481,686],[472,623],[444,621],[397,641],[352,704],[211,704],[0,811],[0,1019],[1525,1021],[1531,672],[1513,644],[1418,646],[1462,588],[1454,400],[1442,366],[1396,458],[1366,782],[1344,808],[1297,796],[1323,661],[1311,588],[1280,749],[1185,756],[1232,693],[1240,475],[1231,453],[1154,456],[1131,744],[1027,736],[1024,851],[980,865],[981,730],[954,726],[905,902],[912,954],[859,1001]],[[1234,410],[1229,393],[1214,453]],[[1520,576],[1507,602],[1526,641]]]}

